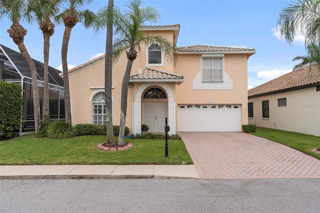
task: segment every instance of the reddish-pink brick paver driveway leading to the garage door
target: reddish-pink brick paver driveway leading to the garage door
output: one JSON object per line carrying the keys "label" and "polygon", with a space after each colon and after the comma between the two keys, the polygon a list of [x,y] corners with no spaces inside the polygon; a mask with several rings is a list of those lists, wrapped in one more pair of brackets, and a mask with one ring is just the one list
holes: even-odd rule
{"label": "reddish-pink brick paver driveway leading to the garage door", "polygon": [[200,178],[320,178],[320,160],[245,133],[178,133]]}

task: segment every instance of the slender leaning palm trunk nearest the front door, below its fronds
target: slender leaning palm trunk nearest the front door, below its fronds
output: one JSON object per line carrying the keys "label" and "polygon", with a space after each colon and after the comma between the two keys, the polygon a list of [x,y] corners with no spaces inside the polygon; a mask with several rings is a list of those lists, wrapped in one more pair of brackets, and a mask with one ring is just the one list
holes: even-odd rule
{"label": "slender leaning palm trunk nearest the front door, below its fronds", "polygon": [[119,138],[118,145],[124,144],[124,128],[125,128],[125,118],[126,118],[126,106],[127,106],[127,96],[128,96],[128,85],[130,80],[130,72],[132,67],[133,60],[128,59],[126,64],[122,86],[121,86],[121,112],[120,112],[120,130],[119,130]]}

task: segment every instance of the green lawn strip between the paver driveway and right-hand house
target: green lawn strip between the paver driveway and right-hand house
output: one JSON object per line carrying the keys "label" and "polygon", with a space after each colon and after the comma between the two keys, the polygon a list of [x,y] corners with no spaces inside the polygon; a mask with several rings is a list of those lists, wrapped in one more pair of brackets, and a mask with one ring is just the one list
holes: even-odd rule
{"label": "green lawn strip between the paver driveway and right-hand house", "polygon": [[311,151],[312,149],[320,148],[320,137],[262,127],[256,127],[255,132],[250,134],[275,141],[320,159],[320,154]]}

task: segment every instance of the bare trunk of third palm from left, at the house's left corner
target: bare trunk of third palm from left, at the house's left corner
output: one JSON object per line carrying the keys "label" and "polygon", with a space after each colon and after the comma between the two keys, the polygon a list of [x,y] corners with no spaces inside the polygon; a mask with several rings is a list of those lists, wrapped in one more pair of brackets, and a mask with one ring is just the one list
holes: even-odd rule
{"label": "bare trunk of third palm from left, at the house's left corner", "polygon": [[71,105],[70,105],[70,91],[69,91],[69,76],[68,76],[68,64],[66,61],[68,43],[71,34],[70,27],[64,28],[63,39],[62,39],[62,48],[61,48],[61,59],[62,59],[62,72],[63,72],[63,87],[64,87],[64,113],[65,113],[65,122],[68,124],[71,123]]}

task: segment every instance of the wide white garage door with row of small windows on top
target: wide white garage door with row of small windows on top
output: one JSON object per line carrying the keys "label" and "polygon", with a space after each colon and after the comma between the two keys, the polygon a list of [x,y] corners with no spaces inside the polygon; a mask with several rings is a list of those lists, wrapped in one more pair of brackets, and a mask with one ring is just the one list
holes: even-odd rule
{"label": "wide white garage door with row of small windows on top", "polygon": [[178,105],[178,132],[241,132],[240,105]]}

